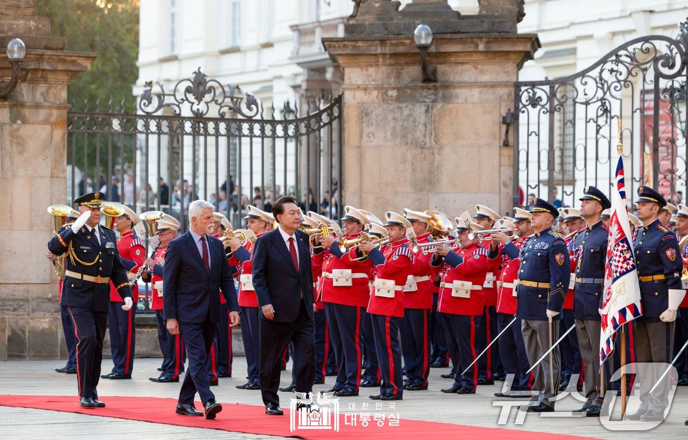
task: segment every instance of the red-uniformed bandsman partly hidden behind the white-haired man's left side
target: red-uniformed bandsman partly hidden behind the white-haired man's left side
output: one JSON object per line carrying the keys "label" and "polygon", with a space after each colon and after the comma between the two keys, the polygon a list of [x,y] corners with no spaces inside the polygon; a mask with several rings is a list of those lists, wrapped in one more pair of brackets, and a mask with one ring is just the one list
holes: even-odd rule
{"label": "red-uniformed bandsman partly hidden behind the white-haired man's left side", "polygon": [[162,275],[167,243],[177,238],[181,225],[177,219],[168,214],[156,220],[155,225],[158,226],[155,236],[160,240],[160,247],[155,251],[152,259],[143,262],[151,269],[143,272],[141,278],[153,284],[151,310],[155,310],[155,318],[158,321],[158,344],[162,351],[162,366],[158,369],[160,375],[149,377],[148,380],[160,383],[179,382],[179,375],[184,371],[186,360],[184,338],[179,333],[171,335],[167,331],[166,322],[162,316]]}

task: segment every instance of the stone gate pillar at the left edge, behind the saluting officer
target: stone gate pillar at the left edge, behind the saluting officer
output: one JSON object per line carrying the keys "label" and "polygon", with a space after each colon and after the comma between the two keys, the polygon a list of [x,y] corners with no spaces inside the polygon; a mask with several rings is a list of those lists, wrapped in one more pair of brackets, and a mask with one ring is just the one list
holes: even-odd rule
{"label": "stone gate pillar at the left edge, behind the saluting officer", "polygon": [[26,56],[17,89],[0,100],[0,360],[66,357],[46,208],[66,197],[67,85],[96,54],[65,51],[32,0],[0,0],[0,82],[14,37]]}

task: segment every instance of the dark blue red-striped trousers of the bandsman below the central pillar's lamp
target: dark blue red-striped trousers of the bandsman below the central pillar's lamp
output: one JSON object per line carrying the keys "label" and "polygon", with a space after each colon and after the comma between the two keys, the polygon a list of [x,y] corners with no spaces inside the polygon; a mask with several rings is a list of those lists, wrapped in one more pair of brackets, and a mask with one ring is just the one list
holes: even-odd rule
{"label": "dark blue red-striped trousers of the bandsman below the central pillar's lamp", "polygon": [[406,377],[411,384],[426,386],[430,373],[430,309],[405,309],[400,331]]}

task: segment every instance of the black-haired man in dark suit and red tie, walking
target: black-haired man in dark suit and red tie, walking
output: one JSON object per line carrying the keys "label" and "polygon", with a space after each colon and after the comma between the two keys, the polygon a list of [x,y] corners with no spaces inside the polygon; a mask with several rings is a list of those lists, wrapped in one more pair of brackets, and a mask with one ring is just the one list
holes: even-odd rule
{"label": "black-haired man in dark suit and red tie, walking", "polygon": [[277,387],[280,357],[294,344],[295,391],[310,393],[315,375],[315,299],[308,234],[299,230],[297,199],[272,203],[279,227],[261,236],[253,251],[253,288],[261,308],[259,377],[265,412],[281,415]]}

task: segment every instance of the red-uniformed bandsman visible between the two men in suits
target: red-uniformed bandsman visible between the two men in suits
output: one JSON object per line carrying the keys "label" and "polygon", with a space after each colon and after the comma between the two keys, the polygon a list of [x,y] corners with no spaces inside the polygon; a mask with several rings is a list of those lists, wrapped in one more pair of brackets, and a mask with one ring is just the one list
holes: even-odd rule
{"label": "red-uniformed bandsman visible between the two men in suits", "polygon": [[[275,218],[272,214],[259,210],[255,206],[249,205],[246,225],[257,237],[263,236],[268,232],[268,225],[271,225]],[[245,384],[237,385],[241,390],[259,390],[260,378],[258,376],[258,355],[260,331],[258,329],[258,299],[253,289],[252,270],[253,265],[251,256],[253,254],[254,243],[246,241],[244,245],[239,239],[228,242],[230,250],[233,252],[230,257],[230,265],[239,267],[239,307],[241,308],[241,339],[244,342],[244,353],[246,353],[246,368],[248,380]]]}

